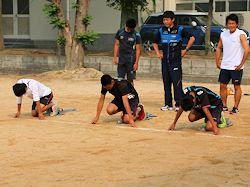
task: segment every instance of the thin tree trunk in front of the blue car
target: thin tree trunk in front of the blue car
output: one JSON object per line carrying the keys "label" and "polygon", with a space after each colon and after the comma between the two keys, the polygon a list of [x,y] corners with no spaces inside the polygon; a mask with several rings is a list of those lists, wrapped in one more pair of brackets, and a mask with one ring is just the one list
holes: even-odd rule
{"label": "thin tree trunk in front of the blue car", "polygon": [[205,52],[206,54],[211,53],[211,23],[213,18],[213,0],[209,0],[209,8],[208,8],[208,19],[207,19],[207,27],[205,33]]}

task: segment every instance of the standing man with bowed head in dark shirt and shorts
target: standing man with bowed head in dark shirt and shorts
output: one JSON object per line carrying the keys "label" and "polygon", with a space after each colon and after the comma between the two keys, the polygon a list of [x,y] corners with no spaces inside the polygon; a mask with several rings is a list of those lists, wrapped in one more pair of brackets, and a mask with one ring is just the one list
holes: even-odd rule
{"label": "standing man with bowed head in dark shirt and shorts", "polygon": [[[119,78],[127,78],[133,84],[141,55],[141,36],[135,31],[135,19],[128,19],[124,28],[117,31],[114,44],[114,64],[118,64]],[[119,61],[117,57],[119,55]]]}

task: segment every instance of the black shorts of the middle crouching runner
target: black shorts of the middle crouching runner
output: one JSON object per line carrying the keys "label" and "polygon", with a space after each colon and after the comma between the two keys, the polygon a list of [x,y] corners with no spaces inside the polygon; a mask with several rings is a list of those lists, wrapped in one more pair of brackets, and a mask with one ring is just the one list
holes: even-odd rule
{"label": "black shorts of the middle crouching runner", "polygon": [[[118,99],[114,98],[111,101],[111,103],[118,107],[119,112],[123,112],[123,114],[127,114],[127,111],[126,111],[122,101],[119,101]],[[139,99],[138,98],[129,99],[129,106],[130,106],[132,115],[134,115],[134,116],[136,114],[138,104],[139,104]]]}

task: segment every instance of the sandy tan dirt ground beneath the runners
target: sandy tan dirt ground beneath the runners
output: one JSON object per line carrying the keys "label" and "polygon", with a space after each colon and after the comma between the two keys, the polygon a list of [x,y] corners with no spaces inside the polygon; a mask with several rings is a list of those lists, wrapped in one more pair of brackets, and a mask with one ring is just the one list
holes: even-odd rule
{"label": "sandy tan dirt ground beneath the runners", "polygon": [[[234,126],[222,129],[223,135],[201,132],[202,121],[191,124],[186,113],[177,131],[169,132],[175,112],[159,109],[161,80],[138,78],[141,102],[158,117],[135,129],[117,125],[120,115],[110,117],[104,109],[93,126],[97,78],[26,77],[51,87],[61,107],[77,112],[40,121],[30,116],[25,98],[21,118],[14,119],[11,87],[20,76],[1,75],[0,186],[250,186],[250,96],[243,96],[237,116],[225,114]],[[218,85],[205,86],[218,91]],[[249,86],[243,90],[250,93]]]}

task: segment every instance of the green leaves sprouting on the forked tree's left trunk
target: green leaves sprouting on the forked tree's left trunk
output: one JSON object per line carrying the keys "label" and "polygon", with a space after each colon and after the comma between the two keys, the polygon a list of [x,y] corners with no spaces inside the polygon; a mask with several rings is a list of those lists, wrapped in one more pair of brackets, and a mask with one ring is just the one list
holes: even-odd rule
{"label": "green leaves sprouting on the forked tree's left trunk", "polygon": [[55,3],[46,4],[43,8],[43,12],[49,18],[49,23],[54,25],[54,28],[63,29],[67,23],[65,20],[62,20],[57,16],[59,11],[60,8]]}

